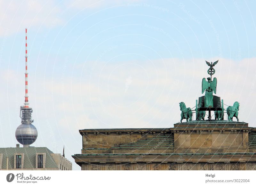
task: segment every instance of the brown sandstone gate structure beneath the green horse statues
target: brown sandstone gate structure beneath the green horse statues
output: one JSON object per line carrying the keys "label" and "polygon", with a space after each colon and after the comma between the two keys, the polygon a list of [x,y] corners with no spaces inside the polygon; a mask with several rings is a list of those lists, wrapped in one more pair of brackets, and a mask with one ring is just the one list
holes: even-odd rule
{"label": "brown sandstone gate structure beneath the green horse statues", "polygon": [[173,128],[84,129],[81,170],[256,170],[256,128],[196,120]]}

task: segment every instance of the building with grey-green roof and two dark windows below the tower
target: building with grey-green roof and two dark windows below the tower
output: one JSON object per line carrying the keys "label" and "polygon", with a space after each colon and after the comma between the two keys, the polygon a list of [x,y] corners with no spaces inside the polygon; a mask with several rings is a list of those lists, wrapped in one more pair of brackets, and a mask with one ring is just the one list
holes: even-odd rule
{"label": "building with grey-green roof and two dark windows below the tower", "polygon": [[0,170],[72,170],[72,163],[46,147],[0,148]]}

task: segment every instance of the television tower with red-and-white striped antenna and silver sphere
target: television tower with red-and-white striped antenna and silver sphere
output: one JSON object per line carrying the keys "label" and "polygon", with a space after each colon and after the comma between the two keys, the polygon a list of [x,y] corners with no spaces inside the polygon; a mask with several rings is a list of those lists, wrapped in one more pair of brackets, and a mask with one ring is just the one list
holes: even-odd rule
{"label": "television tower with red-and-white striped antenna and silver sphere", "polygon": [[20,118],[21,124],[17,127],[15,137],[23,147],[29,147],[30,144],[34,143],[37,138],[37,130],[32,123],[34,120],[31,119],[32,108],[28,105],[28,50],[27,50],[27,28],[26,28],[26,72],[25,72],[25,103],[24,106],[20,106]]}

